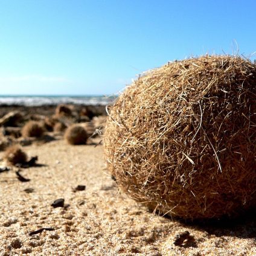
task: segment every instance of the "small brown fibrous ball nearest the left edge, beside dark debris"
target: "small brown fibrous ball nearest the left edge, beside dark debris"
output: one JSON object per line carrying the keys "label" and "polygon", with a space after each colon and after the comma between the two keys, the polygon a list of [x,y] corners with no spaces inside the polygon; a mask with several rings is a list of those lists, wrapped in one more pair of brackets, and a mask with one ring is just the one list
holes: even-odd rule
{"label": "small brown fibrous ball nearest the left edge, beside dark debris", "polygon": [[24,164],[27,161],[27,154],[18,145],[13,145],[5,150],[4,159],[10,164]]}

